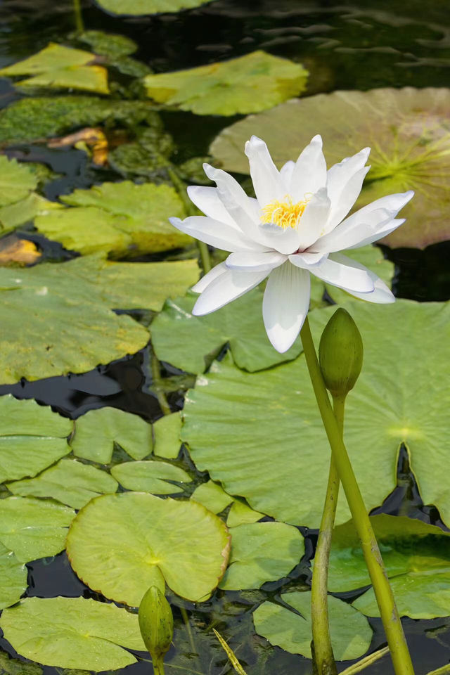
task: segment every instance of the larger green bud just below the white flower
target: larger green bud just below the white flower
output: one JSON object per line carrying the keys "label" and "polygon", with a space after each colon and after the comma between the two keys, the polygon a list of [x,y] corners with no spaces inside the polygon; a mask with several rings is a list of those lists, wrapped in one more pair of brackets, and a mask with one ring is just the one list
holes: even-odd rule
{"label": "larger green bud just below the white flower", "polygon": [[319,362],[323,380],[333,396],[347,396],[363,365],[363,341],[358,326],[340,307],[323,329]]}

